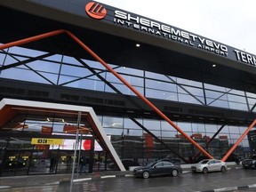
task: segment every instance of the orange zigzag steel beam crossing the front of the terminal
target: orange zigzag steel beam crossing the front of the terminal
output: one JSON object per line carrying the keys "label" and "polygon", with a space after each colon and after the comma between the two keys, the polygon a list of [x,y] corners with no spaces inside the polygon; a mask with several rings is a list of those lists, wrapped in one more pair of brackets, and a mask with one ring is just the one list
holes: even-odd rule
{"label": "orange zigzag steel beam crossing the front of the terminal", "polygon": [[[132,92],[134,92],[141,100],[143,100],[148,105],[148,107],[152,108],[156,112],[156,114],[158,114],[166,122],[171,124],[174,129],[176,129],[178,132],[180,132],[180,134],[182,134],[189,142],[191,142],[196,148],[198,148],[204,154],[204,156],[207,156],[208,158],[213,158],[209,153],[207,153],[204,150],[204,148],[202,148],[198,143],[196,143],[195,140],[193,140],[185,132],[183,132],[178,125],[174,124],[171,121],[171,119],[169,119],[167,116],[165,116],[163,112],[161,112],[158,108],[156,108],[155,105],[153,105],[146,97],[144,97],[142,94],[140,94],[140,92],[138,92],[131,84],[129,84],[122,76],[120,76],[104,60],[101,60],[100,57],[95,52],[92,52],[92,50],[88,46],[86,46],[81,40],[79,40],[76,36],[74,36],[70,31],[64,30],[64,29],[54,30],[52,32],[44,33],[44,34],[41,34],[41,35],[38,35],[38,36],[31,36],[31,37],[24,38],[24,39],[21,39],[21,40],[18,40],[18,41],[14,41],[14,42],[11,42],[11,43],[8,43],[8,44],[1,44],[0,45],[0,50],[10,48],[12,46],[19,46],[21,44],[28,44],[28,43],[38,41],[38,40],[41,40],[41,39],[44,39],[44,38],[47,38],[47,37],[50,37],[50,36],[57,36],[57,35],[60,35],[62,33],[68,34],[68,36],[70,36],[74,41],[76,41],[76,43],[79,44],[86,52],[89,52],[95,60],[98,60],[105,68],[108,69],[108,71],[110,71],[121,82],[123,82],[123,84],[125,84]],[[246,132],[244,132],[242,137],[239,140],[237,140],[236,145],[234,145],[233,148],[231,148],[228,151],[228,154],[222,158],[223,161],[227,160],[228,156],[235,150],[237,145],[244,139],[245,135],[252,129],[254,124],[256,124],[256,119],[254,120],[252,125],[246,130]]]}

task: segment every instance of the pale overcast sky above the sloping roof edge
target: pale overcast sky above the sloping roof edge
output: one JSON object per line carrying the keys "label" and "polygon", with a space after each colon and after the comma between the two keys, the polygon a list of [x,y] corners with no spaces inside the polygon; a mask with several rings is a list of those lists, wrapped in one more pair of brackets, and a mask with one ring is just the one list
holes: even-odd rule
{"label": "pale overcast sky above the sloping roof edge", "polygon": [[255,0],[98,0],[256,55]]}

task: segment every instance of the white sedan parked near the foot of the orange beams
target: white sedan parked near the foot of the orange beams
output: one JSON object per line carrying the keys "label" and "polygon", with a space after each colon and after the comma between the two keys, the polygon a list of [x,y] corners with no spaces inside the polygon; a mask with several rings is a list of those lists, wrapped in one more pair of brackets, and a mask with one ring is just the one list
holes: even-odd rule
{"label": "white sedan parked near the foot of the orange beams", "polygon": [[194,164],[191,166],[192,172],[226,172],[228,170],[228,166],[225,162],[222,162],[217,159],[204,159],[200,161],[198,164]]}

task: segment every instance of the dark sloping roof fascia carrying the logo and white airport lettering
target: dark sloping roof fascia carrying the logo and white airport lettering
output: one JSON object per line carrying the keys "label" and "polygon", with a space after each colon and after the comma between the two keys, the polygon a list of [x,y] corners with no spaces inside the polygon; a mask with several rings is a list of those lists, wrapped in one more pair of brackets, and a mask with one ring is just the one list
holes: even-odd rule
{"label": "dark sloping roof fascia carrying the logo and white airport lettering", "polygon": [[[36,2],[36,0],[31,1]],[[185,46],[193,47],[204,52],[211,52],[212,54],[227,58],[228,60],[235,60],[250,66],[256,66],[256,56],[251,53],[238,50],[227,44],[221,44],[220,42],[213,41],[204,36],[198,36],[181,28],[175,28],[171,25],[151,20],[132,12],[126,12],[125,10],[108,6],[107,4],[101,4],[91,0],[86,0],[85,3],[81,0],[73,0],[72,4],[76,4],[76,9],[68,9],[67,7],[69,7],[71,3],[64,1],[61,2],[62,6],[58,6],[58,4],[53,4],[51,1],[46,0],[42,1],[41,4],[52,6],[55,9],[62,9],[64,12],[71,12],[72,14],[81,15],[83,17],[89,16],[92,20],[99,20],[99,22],[116,25],[120,28],[128,28],[145,35],[156,36],[177,44],[184,44]],[[64,6],[64,4],[67,6]]]}

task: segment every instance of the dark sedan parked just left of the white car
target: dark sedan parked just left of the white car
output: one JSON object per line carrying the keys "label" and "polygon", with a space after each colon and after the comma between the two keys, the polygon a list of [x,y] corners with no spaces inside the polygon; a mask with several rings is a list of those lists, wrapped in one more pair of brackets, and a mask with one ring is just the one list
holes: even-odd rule
{"label": "dark sedan parked just left of the white car", "polygon": [[162,160],[133,169],[134,176],[143,177],[144,179],[158,175],[172,175],[173,177],[176,177],[181,172],[182,168],[180,164],[173,164],[170,161]]}

